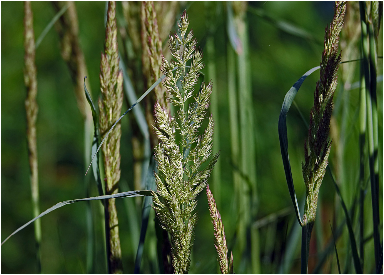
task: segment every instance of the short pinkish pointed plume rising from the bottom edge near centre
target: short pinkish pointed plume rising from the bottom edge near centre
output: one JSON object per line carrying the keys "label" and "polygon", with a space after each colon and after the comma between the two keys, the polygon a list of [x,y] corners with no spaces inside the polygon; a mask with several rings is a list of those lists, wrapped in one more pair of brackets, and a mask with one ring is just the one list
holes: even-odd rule
{"label": "short pinkish pointed plume rising from the bottom edge near centre", "polygon": [[233,274],[233,256],[231,252],[230,262],[228,262],[228,246],[227,238],[225,237],[224,225],[221,221],[220,213],[218,212],[214,195],[207,185],[207,198],[209,206],[209,214],[215,230],[215,247],[217,250],[218,262],[222,274]]}

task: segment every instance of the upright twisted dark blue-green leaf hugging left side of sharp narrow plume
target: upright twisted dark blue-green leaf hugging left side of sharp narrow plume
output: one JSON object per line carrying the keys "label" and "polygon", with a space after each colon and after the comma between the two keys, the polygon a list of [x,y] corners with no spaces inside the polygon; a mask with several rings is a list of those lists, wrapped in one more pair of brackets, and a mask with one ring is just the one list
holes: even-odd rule
{"label": "upright twisted dark blue-green leaf hugging left side of sharp narrow plume", "polygon": [[98,118],[98,114],[96,112],[96,108],[93,104],[91,95],[89,95],[87,87],[85,86],[85,78],[87,78],[87,77],[86,76],[84,77],[84,92],[85,92],[85,97],[88,100],[89,106],[91,106],[92,118],[93,118],[93,128],[94,128],[91,153],[92,153],[92,155],[96,156],[96,161],[93,162],[92,170],[93,170],[93,176],[95,178],[96,185],[97,185],[97,188],[99,191],[99,195],[102,196],[102,195],[104,195],[104,190],[103,190],[103,184],[101,183],[101,176],[100,176],[100,169],[99,169],[99,153],[96,154],[96,149],[98,147],[99,140],[100,140],[100,130],[99,130],[99,123],[98,123],[99,118]]}

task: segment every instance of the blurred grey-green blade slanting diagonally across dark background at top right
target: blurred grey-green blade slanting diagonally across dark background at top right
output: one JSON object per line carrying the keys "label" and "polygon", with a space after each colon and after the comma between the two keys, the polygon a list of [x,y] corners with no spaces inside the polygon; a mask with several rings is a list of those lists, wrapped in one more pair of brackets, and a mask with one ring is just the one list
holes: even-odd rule
{"label": "blurred grey-green blade slanting diagonally across dark background at top right", "polygon": [[271,17],[270,15],[268,15],[264,10],[262,10],[260,8],[248,6],[248,12],[262,18],[266,22],[269,22],[273,27],[275,27],[279,30],[282,30],[283,32],[286,32],[290,35],[294,35],[297,37],[301,37],[301,38],[313,41],[319,45],[323,45],[323,42],[321,42],[316,37],[314,37],[310,32],[304,30],[301,27],[297,27],[297,26],[293,25],[292,23],[288,23],[288,22],[285,22],[283,20],[275,19],[275,18]]}

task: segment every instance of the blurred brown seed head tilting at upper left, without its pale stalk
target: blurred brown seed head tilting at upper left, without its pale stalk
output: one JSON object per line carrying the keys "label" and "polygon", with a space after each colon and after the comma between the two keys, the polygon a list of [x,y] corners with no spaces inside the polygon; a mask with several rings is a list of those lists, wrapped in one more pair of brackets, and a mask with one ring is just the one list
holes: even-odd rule
{"label": "blurred brown seed head tilting at upper left, without its pale stalk", "polygon": [[84,54],[79,44],[79,22],[76,6],[73,1],[52,1],[52,5],[56,12],[59,12],[61,8],[68,5],[67,11],[55,24],[60,37],[61,56],[67,63],[72,81],[76,85],[75,95],[78,108],[83,118],[92,120],[91,108],[86,100],[83,88],[84,75],[87,75],[87,68]]}

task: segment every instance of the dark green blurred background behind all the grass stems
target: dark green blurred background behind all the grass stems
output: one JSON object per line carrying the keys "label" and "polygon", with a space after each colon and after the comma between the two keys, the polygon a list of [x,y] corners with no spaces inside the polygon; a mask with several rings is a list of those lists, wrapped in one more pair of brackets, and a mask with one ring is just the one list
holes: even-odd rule
{"label": "dark green blurred background behind all the grass stems", "polygon": [[[285,180],[278,140],[277,122],[285,93],[310,68],[319,65],[324,39],[324,28],[333,17],[333,2],[250,2],[250,7],[264,10],[280,20],[291,22],[311,33],[320,43],[311,42],[282,32],[271,23],[247,12],[249,28],[249,51],[252,81],[252,104],[255,120],[256,177],[258,192],[258,210],[255,220],[271,213],[286,209],[286,214],[263,225],[260,230],[260,262],[262,273],[278,272],[285,255],[288,240],[293,234],[291,228],[297,223],[293,215],[292,202]],[[118,13],[121,5],[118,3]],[[88,67],[88,79],[93,98],[97,98],[99,89],[100,53],[103,51],[105,37],[104,9],[105,2],[76,2],[79,20],[79,40]],[[203,2],[182,2],[180,12],[188,8],[190,27],[194,30],[198,44],[205,50],[207,29]],[[49,2],[33,2],[34,29],[37,38],[46,27],[55,12]],[[221,149],[221,205],[222,216],[228,246],[234,239],[236,212],[233,210],[233,167],[230,164],[230,132],[228,128],[228,92],[227,92],[227,27],[226,9],[221,8],[214,33],[216,82],[218,91],[218,113]],[[382,33],[382,29],[381,29]],[[381,35],[382,37],[382,35]],[[379,48],[380,49],[380,48]],[[382,56],[382,49],[379,50]],[[1,240],[4,240],[16,228],[28,222],[32,217],[29,167],[26,147],[26,119],[24,100],[26,90],[23,82],[23,2],[1,3]],[[381,65],[380,65],[381,64]],[[76,105],[74,85],[68,68],[61,58],[59,38],[52,28],[36,50],[36,67],[38,81],[37,118],[38,165],[40,184],[41,212],[63,200],[86,197],[84,184],[84,124]],[[379,59],[382,67],[382,59]],[[382,71],[378,72],[382,75]],[[313,105],[313,91],[319,72],[310,75],[303,83],[296,97],[296,103],[309,120]],[[340,78],[339,78],[340,79]],[[356,73],[354,81],[358,81]],[[340,86],[340,85],[339,85]],[[341,95],[336,90],[335,102]],[[144,91],[137,91],[140,95]],[[354,196],[358,179],[358,119],[354,117],[358,107],[359,90],[348,91],[348,101],[339,100],[339,108],[348,109],[347,129],[351,133],[346,140],[344,151],[344,171],[346,178],[341,185],[343,196],[349,207]],[[378,94],[382,104],[382,82],[378,85]],[[336,106],[336,103],[335,103]],[[340,107],[341,106],[341,107]],[[123,109],[128,107],[126,103]],[[380,109],[381,108],[381,109]],[[379,107],[379,132],[382,133],[382,105]],[[342,112],[335,113],[336,121],[341,120]],[[132,172],[132,113],[122,120],[121,138],[121,182],[128,183],[133,190]],[[300,113],[293,106],[288,113],[288,142],[290,161],[299,204],[305,192],[301,161],[303,144],[307,136],[305,123]],[[382,134],[380,140],[382,139]],[[337,142],[337,141],[335,141]],[[382,146],[382,143],[381,143]],[[382,152],[382,147],[379,152]],[[331,151],[331,162],[334,155]],[[379,163],[382,170],[382,154]],[[382,174],[381,174],[382,175]],[[91,173],[87,175],[94,182]],[[381,178],[382,183],[382,178]],[[382,184],[380,185],[382,193]],[[96,185],[91,195],[97,195]],[[320,189],[321,226],[315,228],[312,238],[321,229],[325,241],[330,237],[329,222],[343,218],[334,187],[328,176],[324,178]],[[367,198],[370,197],[368,190]],[[132,273],[136,251],[132,249],[132,240],[124,200],[118,198],[120,238],[124,272]],[[382,201],[382,197],[381,197]],[[370,202],[367,202],[369,206]],[[95,212],[98,201],[91,202]],[[153,212],[153,210],[151,210]],[[197,212],[199,220],[195,228],[195,242],[190,273],[217,273],[216,251],[214,247],[213,227],[209,217],[207,197],[202,192],[198,197]],[[153,213],[151,214],[150,219]],[[382,217],[382,216],[381,216]],[[369,220],[369,217],[367,218]],[[79,202],[65,206],[41,218],[42,244],[41,266],[43,273],[85,273],[86,272],[86,203]],[[367,221],[369,222],[369,221]],[[146,242],[151,242],[151,226]],[[95,270],[105,272],[101,226],[95,227]],[[367,230],[369,231],[369,230]],[[35,273],[35,241],[33,226],[30,225],[1,247],[2,273]],[[348,236],[344,232],[338,243],[342,267],[347,261]],[[369,233],[369,232],[368,232]],[[153,233],[154,234],[154,233]],[[153,236],[152,236],[153,237]],[[310,256],[309,268],[316,263],[316,249],[321,251],[324,243]],[[372,241],[367,244],[372,247]],[[157,272],[151,267],[151,244],[146,244],[142,272]],[[156,251],[156,248],[155,248]],[[371,250],[373,251],[373,250]],[[300,242],[289,252],[293,254],[288,272],[300,270]],[[333,257],[333,253],[331,253]],[[246,256],[234,255],[235,258]],[[373,262],[367,255],[367,262]],[[311,263],[311,260],[313,262]],[[331,260],[329,260],[331,261]],[[335,260],[333,260],[335,261]],[[369,264],[366,264],[367,270]],[[335,262],[333,262],[335,268]],[[331,269],[324,269],[329,272]],[[335,269],[332,269],[335,272]],[[235,272],[250,272],[247,264],[239,265]]]}

